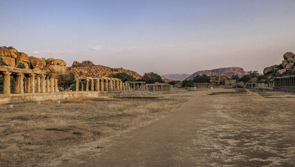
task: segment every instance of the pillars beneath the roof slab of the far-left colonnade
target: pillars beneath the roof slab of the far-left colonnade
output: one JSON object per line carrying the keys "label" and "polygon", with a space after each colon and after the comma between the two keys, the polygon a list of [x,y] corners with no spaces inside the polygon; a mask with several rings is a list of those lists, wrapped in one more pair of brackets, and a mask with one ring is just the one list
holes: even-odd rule
{"label": "pillars beneath the roof slab of the far-left colonnade", "polygon": [[3,94],[10,95],[10,77],[15,76],[15,93],[54,93],[58,92],[57,79],[45,79],[45,75],[23,74],[20,72],[3,73]]}

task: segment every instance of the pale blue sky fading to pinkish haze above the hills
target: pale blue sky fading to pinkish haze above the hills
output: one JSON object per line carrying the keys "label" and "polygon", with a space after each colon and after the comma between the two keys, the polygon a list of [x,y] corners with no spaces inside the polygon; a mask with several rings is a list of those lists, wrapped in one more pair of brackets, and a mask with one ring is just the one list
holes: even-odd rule
{"label": "pale blue sky fading to pinkish haze above the hills", "polygon": [[4,1],[0,45],[144,72],[259,70],[295,52],[295,1]]}

